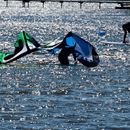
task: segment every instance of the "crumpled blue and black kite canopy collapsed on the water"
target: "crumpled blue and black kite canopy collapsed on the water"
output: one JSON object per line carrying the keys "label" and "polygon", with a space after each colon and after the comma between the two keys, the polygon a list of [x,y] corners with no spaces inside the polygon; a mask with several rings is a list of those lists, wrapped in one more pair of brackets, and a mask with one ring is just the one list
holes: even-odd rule
{"label": "crumpled blue and black kite canopy collapsed on the water", "polygon": [[72,32],[69,32],[58,46],[49,51],[55,52],[56,49],[61,49],[58,59],[64,65],[69,64],[70,54],[73,55],[74,60],[78,60],[87,67],[95,67],[100,62],[95,47]]}

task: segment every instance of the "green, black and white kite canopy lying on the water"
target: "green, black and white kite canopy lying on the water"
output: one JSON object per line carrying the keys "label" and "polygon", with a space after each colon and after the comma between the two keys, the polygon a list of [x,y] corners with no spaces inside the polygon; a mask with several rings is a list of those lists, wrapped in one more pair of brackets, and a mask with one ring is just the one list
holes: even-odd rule
{"label": "green, black and white kite canopy lying on the water", "polygon": [[14,45],[14,52],[0,52],[0,63],[9,63],[38,49],[40,44],[26,32],[21,32]]}

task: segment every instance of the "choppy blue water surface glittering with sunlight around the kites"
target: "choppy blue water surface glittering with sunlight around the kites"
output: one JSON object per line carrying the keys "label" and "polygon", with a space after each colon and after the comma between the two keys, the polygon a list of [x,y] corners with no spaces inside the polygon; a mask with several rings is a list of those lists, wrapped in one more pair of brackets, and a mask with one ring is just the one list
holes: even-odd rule
{"label": "choppy blue water surface glittering with sunlight around the kites", "polygon": [[69,31],[89,40],[100,55],[100,65],[61,66],[44,51],[0,66],[1,130],[129,130],[130,46],[103,45],[97,32],[106,30],[113,41],[123,38],[122,24],[130,11],[115,5],[10,3],[0,8],[0,47],[14,49],[21,31],[40,44]]}

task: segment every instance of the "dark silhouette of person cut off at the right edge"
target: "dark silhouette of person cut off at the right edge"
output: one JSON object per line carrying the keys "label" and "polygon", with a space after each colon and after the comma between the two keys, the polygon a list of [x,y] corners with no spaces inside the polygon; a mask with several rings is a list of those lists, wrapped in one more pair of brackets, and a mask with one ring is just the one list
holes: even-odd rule
{"label": "dark silhouette of person cut off at the right edge", "polygon": [[126,43],[126,36],[128,33],[130,33],[130,22],[127,22],[122,25],[123,31],[124,31],[124,37],[123,37],[123,43]]}

